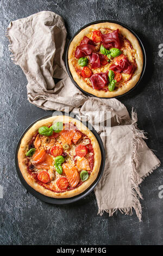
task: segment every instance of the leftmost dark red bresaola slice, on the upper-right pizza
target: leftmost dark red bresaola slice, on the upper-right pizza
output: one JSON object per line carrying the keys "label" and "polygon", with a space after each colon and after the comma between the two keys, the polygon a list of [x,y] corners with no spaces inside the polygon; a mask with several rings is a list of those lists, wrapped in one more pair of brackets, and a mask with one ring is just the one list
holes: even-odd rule
{"label": "leftmost dark red bresaola slice, on the upper-right pizza", "polygon": [[80,45],[76,48],[75,57],[79,59],[91,55],[92,52],[95,50],[96,46],[94,42],[91,39],[87,38],[87,36],[84,36],[84,38],[80,42]]}

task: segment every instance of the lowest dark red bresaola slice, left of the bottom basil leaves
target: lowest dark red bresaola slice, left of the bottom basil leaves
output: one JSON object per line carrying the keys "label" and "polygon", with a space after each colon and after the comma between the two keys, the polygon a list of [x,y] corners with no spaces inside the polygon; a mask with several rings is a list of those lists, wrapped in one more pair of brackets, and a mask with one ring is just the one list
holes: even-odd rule
{"label": "lowest dark red bresaola slice, left of the bottom basil leaves", "polygon": [[93,89],[102,89],[108,84],[108,71],[96,73],[90,77]]}

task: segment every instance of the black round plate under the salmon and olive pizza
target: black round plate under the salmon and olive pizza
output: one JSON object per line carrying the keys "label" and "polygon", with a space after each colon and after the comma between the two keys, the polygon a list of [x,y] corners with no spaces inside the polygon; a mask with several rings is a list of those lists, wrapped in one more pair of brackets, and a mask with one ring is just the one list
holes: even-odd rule
{"label": "black round plate under the salmon and olive pizza", "polygon": [[[66,113],[64,113],[66,114]],[[66,114],[68,115],[68,114]],[[52,115],[47,115],[46,117],[42,117],[40,119],[37,119],[33,124],[31,124],[26,131],[23,132],[18,144],[17,144],[17,148],[16,148],[16,152],[15,152],[15,166],[16,166],[16,170],[17,170],[17,175],[18,178],[20,178],[20,181],[22,182],[23,186],[27,189],[27,191],[29,191],[29,193],[33,194],[33,196],[39,198],[40,200],[46,202],[46,203],[50,203],[50,204],[70,204],[70,203],[74,203],[77,202],[80,199],[83,199],[84,197],[86,197],[88,194],[90,194],[92,192],[92,190],[96,187],[96,185],[98,184],[98,181],[101,179],[102,177],[102,173],[104,170],[104,165],[105,165],[105,151],[104,151],[104,146],[102,143],[101,138],[99,137],[98,133],[95,131],[95,129],[88,123],[88,122],[83,122],[83,124],[85,126],[87,126],[95,135],[98,143],[99,143],[99,147],[101,149],[101,155],[102,155],[102,161],[101,161],[101,167],[99,169],[98,172],[98,176],[97,179],[91,184],[91,186],[89,188],[87,188],[87,190],[85,190],[83,193],[79,194],[78,196],[74,196],[71,198],[52,198],[52,197],[47,197],[44,196],[43,194],[37,192],[36,190],[34,190],[32,187],[30,187],[26,180],[24,180],[23,175],[20,171],[20,168],[18,167],[18,159],[17,159],[17,154],[18,154],[18,149],[20,148],[20,144],[21,144],[21,140],[24,136],[24,134],[30,129],[30,127],[32,127],[37,121],[48,118],[48,117],[52,117]],[[76,115],[73,115],[74,118],[78,119]]]}

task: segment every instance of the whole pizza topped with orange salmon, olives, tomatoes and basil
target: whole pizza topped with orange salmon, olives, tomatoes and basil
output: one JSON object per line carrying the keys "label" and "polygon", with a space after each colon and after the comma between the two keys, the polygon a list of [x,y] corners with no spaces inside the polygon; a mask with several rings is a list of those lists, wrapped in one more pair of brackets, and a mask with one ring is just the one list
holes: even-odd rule
{"label": "whole pizza topped with orange salmon, olives, tomatoes and basil", "polygon": [[59,115],[37,121],[23,136],[18,165],[27,183],[48,197],[68,198],[96,180],[101,150],[79,120]]}

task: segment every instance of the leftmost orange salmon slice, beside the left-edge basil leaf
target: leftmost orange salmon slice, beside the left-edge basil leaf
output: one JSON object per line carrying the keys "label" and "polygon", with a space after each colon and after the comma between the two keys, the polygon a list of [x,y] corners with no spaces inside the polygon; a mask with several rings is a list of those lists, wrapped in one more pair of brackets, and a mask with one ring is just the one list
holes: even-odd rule
{"label": "leftmost orange salmon slice, beside the left-edge basil leaf", "polygon": [[33,155],[33,164],[36,166],[37,169],[46,169],[48,170],[53,163],[52,156],[49,156],[45,149],[36,150],[35,154]]}

